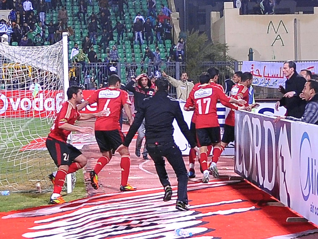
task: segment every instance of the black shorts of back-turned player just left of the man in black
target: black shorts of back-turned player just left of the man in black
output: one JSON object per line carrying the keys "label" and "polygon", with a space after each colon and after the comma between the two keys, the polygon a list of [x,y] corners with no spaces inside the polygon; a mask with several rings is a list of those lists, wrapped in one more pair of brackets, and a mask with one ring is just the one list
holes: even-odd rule
{"label": "black shorts of back-turned player just left of the man in black", "polygon": [[100,152],[116,150],[124,141],[125,136],[119,129],[95,130],[95,138]]}

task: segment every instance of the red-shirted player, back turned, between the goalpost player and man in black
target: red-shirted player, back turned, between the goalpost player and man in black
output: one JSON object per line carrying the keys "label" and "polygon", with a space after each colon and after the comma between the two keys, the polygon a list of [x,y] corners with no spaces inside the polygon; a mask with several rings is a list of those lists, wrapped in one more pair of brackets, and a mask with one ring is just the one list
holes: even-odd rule
{"label": "red-shirted player, back turned, between the goalpost player and man in black", "polygon": [[[98,173],[109,163],[112,158],[112,150],[116,150],[124,141],[124,134],[121,132],[118,122],[122,108],[124,108],[130,125],[134,119],[131,115],[131,102],[128,93],[120,89],[121,79],[117,75],[111,75],[108,80],[109,87],[101,88],[82,102],[78,109],[83,109],[86,105],[97,102],[99,110],[106,110],[106,114],[95,122],[95,138],[100,148],[102,156],[98,159],[94,170],[90,172],[91,185],[98,189]],[[135,191],[136,188],[128,184],[130,169],[130,154],[126,149],[118,150],[121,155],[121,185],[120,191]]]}

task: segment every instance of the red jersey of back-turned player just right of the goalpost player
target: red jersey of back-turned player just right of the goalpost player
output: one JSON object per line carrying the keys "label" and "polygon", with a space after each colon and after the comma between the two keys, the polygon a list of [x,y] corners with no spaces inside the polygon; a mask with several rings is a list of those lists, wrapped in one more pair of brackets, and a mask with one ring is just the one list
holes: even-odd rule
{"label": "red jersey of back-turned player just right of the goalpost player", "polygon": [[120,129],[119,118],[123,105],[131,105],[128,93],[112,86],[95,91],[93,95],[87,98],[87,101],[90,105],[97,102],[98,112],[108,111],[105,116],[97,118],[95,130]]}

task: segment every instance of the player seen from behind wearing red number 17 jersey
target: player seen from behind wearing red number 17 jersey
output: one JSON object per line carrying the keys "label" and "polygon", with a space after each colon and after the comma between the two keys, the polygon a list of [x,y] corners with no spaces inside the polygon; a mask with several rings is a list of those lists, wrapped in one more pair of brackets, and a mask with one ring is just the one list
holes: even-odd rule
{"label": "player seen from behind wearing red number 17 jersey", "polygon": [[[199,77],[200,85],[197,90],[190,92],[191,104],[186,103],[184,110],[189,111],[194,106],[196,119],[197,141],[200,146],[200,164],[204,173],[203,183],[209,182],[209,171],[207,166],[207,146],[212,145],[220,148],[221,136],[218,123],[217,102],[222,100],[235,104],[245,104],[245,100],[230,98],[217,86],[210,85],[210,75],[204,72]],[[189,102],[188,101],[188,102]]]}

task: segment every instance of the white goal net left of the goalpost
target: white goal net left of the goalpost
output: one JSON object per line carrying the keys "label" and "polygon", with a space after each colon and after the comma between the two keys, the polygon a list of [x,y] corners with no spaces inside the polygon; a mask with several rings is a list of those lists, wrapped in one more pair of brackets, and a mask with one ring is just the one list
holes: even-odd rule
{"label": "white goal net left of the goalpost", "polygon": [[62,41],[51,46],[0,43],[0,190],[52,189],[56,170],[45,148],[64,101]]}

